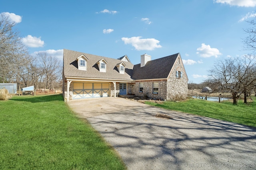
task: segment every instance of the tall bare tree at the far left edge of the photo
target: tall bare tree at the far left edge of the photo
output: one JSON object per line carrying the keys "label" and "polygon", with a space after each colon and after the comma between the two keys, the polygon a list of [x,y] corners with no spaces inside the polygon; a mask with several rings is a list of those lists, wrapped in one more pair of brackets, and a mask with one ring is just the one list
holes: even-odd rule
{"label": "tall bare tree at the far left edge of the photo", "polygon": [[28,50],[22,43],[15,22],[0,14],[0,77],[2,82],[12,82],[15,74],[24,66]]}

